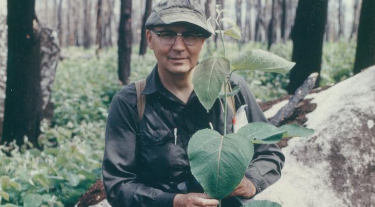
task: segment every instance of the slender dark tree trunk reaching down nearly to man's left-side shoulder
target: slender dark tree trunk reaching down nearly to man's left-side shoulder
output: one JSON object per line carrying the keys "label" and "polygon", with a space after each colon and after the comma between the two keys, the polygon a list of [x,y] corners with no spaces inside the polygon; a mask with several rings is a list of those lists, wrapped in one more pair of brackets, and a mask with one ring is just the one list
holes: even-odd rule
{"label": "slender dark tree trunk reaching down nearly to man's left-side shoulder", "polygon": [[132,1],[121,0],[120,26],[119,26],[119,79],[126,85],[130,76],[130,56],[132,52],[131,29]]}

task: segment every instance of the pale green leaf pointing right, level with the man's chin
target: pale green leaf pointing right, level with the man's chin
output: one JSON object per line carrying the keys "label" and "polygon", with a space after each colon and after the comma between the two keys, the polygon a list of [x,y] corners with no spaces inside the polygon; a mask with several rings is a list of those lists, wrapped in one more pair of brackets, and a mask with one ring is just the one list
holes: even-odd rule
{"label": "pale green leaf pointing right, level with the man's chin", "polygon": [[275,73],[288,72],[295,63],[261,49],[244,51],[231,61],[235,70],[261,70]]}

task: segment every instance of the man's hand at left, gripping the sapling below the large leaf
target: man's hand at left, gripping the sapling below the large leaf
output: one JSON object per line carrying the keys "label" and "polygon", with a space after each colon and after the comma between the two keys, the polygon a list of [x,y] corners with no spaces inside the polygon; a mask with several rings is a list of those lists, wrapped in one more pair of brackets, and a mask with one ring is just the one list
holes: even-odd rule
{"label": "man's hand at left, gripping the sapling below the large leaf", "polygon": [[216,207],[219,201],[204,193],[177,194],[173,207]]}

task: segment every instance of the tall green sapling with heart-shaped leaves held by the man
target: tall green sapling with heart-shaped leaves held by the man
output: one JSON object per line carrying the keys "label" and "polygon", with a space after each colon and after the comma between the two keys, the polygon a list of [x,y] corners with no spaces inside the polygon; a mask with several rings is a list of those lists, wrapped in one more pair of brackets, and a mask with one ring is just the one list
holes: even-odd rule
{"label": "tall green sapling with heart-shaped leaves held by the man", "polygon": [[[216,7],[217,18],[209,18],[207,24],[212,33],[219,35],[224,57],[208,57],[195,69],[193,76],[194,90],[207,112],[219,99],[223,108],[224,120],[227,120],[227,97],[236,95],[240,89],[228,91],[232,73],[236,70],[261,70],[286,73],[295,63],[286,61],[267,51],[254,49],[243,51],[232,60],[227,59],[224,35],[241,39],[241,30],[236,23],[223,17],[225,10]],[[214,22],[217,30],[213,31]],[[223,30],[223,23],[230,25]],[[222,91],[222,92],[221,92]],[[221,93],[220,93],[221,92]],[[221,100],[222,99],[222,100]],[[277,143],[283,137],[309,136],[314,130],[296,124],[275,127],[264,122],[249,123],[236,133],[227,133],[226,121],[223,121],[223,134],[214,129],[197,131],[189,141],[188,156],[191,171],[205,192],[212,198],[220,200],[228,196],[245,175],[245,171],[254,154],[253,144]],[[246,122],[247,123],[247,122]],[[246,206],[280,206],[267,200],[250,202]]]}

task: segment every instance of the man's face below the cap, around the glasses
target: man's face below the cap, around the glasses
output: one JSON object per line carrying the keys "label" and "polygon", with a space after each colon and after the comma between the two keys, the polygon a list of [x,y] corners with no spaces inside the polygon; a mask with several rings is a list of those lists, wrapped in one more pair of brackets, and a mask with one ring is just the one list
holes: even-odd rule
{"label": "man's face below the cap, around the glasses", "polygon": [[[183,33],[194,31],[194,26],[185,24],[167,25],[155,27],[154,30]],[[149,48],[154,50],[159,70],[172,74],[190,72],[198,63],[199,53],[205,41],[204,38],[199,38],[194,45],[186,45],[182,37],[177,36],[175,42],[168,45],[163,43],[159,36],[151,30],[146,30],[146,37]]]}

